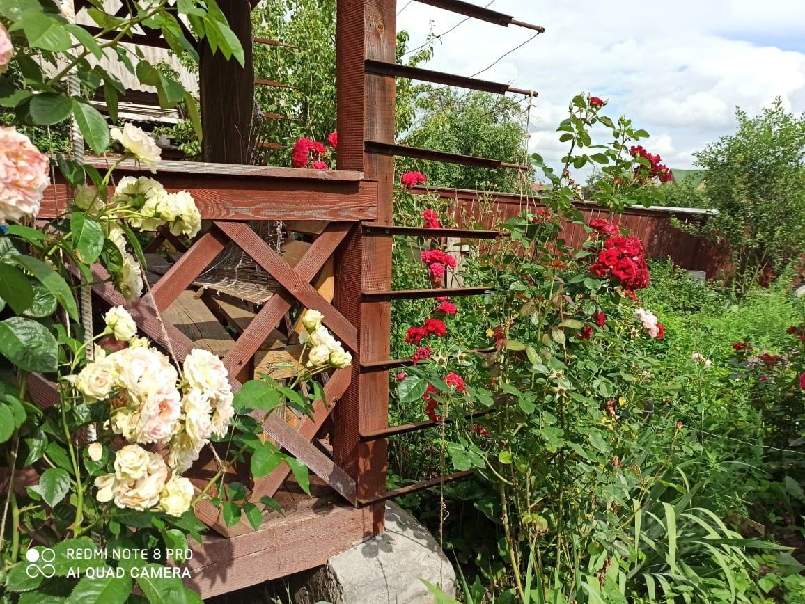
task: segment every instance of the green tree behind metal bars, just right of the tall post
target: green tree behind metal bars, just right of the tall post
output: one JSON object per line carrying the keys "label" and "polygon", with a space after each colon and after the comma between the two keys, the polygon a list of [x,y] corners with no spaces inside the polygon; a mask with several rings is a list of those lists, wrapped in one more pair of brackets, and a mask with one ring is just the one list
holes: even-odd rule
{"label": "green tree behind metal bars, just right of the tall post", "polygon": [[[489,92],[459,93],[453,88],[419,89],[415,121],[403,135],[408,146],[523,163],[526,153],[524,105]],[[520,175],[510,168],[488,170],[423,160],[400,160],[403,170],[427,175],[442,187],[519,191]],[[526,182],[530,183],[530,178]]]}

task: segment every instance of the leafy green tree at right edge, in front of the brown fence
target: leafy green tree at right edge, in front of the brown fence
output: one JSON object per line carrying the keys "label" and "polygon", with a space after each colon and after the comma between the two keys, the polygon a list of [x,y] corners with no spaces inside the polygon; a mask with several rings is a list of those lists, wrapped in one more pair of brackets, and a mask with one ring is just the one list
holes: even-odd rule
{"label": "leafy green tree at right edge, in front of the brown fence", "polygon": [[741,109],[735,116],[735,134],[695,154],[718,212],[695,231],[727,246],[742,294],[803,253],[805,115],[786,112],[777,98],[755,117]]}

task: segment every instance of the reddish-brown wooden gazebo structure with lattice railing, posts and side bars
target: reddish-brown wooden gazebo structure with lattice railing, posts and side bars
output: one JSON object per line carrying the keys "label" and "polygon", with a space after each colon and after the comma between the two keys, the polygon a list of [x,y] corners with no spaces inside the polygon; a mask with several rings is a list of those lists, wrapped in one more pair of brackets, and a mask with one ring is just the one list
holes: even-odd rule
{"label": "reddish-brown wooden gazebo structure with lattice railing, posts and side bars", "polygon": [[[511,23],[538,31],[539,26],[459,0],[419,0],[498,25]],[[125,6],[125,2],[124,2]],[[103,269],[94,275],[97,298],[129,308],[141,331],[180,360],[196,347],[183,331],[159,313],[166,312],[226,246],[237,246],[279,284],[279,290],[250,318],[223,354],[230,376],[244,376],[262,343],[287,313],[303,307],[319,310],[324,323],[353,354],[353,367],[336,370],[324,387],[326,404],[316,401],[312,418],[289,425],[272,415],[263,421],[268,438],[301,459],[316,475],[313,497],[300,495],[283,464],[250,485],[249,500],[263,507],[274,496],[284,515],[264,510],[257,532],[243,520],[227,527],[219,510],[201,502],[196,515],[217,532],[194,547],[188,562],[191,585],[202,598],[324,564],[384,528],[386,499],[402,492],[434,486],[429,481],[403,491],[386,491],[386,442],[398,427],[388,426],[389,368],[405,364],[390,359],[390,310],[395,298],[433,298],[445,290],[391,289],[392,195],[394,155],[407,155],[490,168],[526,166],[486,158],[470,158],[395,144],[395,78],[411,77],[491,92],[528,92],[450,74],[407,68],[395,63],[395,0],[338,0],[337,169],[314,171],[246,165],[254,146],[254,72],[249,0],[220,3],[242,40],[246,64],[226,62],[208,50],[201,53],[200,92],[204,126],[204,162],[161,162],[159,180],[169,191],[186,189],[196,199],[206,229],[151,286],[143,298],[126,302],[105,282]],[[79,10],[81,6],[77,6]],[[138,43],[155,43],[158,39]],[[205,47],[206,48],[206,47]],[[103,165],[105,160],[98,160]],[[126,175],[146,175],[134,164],[119,168]],[[43,217],[54,216],[69,199],[68,185],[48,191]],[[310,244],[294,263],[287,261],[254,230],[254,224],[283,220],[289,230],[306,233]],[[418,228],[422,236],[468,236],[469,232]],[[478,232],[493,238],[497,232]],[[335,266],[332,301],[316,287],[325,264]],[[450,295],[481,294],[487,288],[449,290]],[[241,380],[233,377],[233,388]],[[47,388],[33,380],[31,391],[47,399]],[[431,422],[432,423],[432,422]],[[418,427],[427,427],[421,422]],[[326,429],[330,445],[317,435]],[[406,429],[406,431],[410,431]]]}

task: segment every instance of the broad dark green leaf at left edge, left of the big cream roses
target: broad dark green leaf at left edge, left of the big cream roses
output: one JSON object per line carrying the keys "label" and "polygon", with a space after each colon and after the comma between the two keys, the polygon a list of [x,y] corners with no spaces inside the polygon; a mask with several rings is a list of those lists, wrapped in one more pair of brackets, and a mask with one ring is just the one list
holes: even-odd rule
{"label": "broad dark green leaf at left edge, left of the big cream roses", "polygon": [[0,354],[27,372],[53,373],[59,366],[56,338],[29,318],[0,322]]}

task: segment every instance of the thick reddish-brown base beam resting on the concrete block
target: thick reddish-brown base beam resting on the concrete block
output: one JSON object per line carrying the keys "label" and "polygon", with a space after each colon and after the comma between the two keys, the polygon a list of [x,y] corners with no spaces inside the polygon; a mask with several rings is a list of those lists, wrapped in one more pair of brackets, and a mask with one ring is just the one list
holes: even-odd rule
{"label": "thick reddish-brown base beam resting on the concrete block", "polygon": [[192,575],[186,584],[201,598],[213,598],[326,564],[371,535],[369,510],[323,503],[272,520],[257,532],[192,542],[193,556],[183,565]]}

